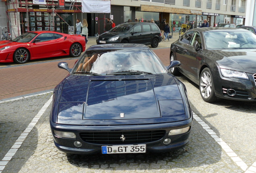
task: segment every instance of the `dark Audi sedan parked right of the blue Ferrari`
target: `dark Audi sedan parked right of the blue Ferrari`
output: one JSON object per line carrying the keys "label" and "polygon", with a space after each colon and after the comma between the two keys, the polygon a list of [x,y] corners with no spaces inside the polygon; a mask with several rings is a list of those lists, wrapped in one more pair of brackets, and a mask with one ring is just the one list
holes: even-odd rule
{"label": "dark Audi sedan parked right of the blue Ferrari", "polygon": [[240,28],[197,28],[171,44],[171,73],[199,85],[202,99],[256,101],[256,35]]}

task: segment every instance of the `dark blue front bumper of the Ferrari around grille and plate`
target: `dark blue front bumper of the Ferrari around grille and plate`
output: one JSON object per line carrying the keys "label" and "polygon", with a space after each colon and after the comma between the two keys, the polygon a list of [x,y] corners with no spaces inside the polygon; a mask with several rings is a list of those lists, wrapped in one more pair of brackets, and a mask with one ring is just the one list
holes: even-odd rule
{"label": "dark blue front bumper of the Ferrari around grille and plate", "polygon": [[[60,125],[56,123],[51,124],[51,130],[54,137],[54,144],[60,151],[64,151],[66,153],[73,153],[73,154],[92,154],[92,153],[101,153],[101,146],[105,145],[114,145],[108,144],[107,141],[104,144],[97,144],[97,143],[88,143],[85,142],[81,137],[80,133],[83,132],[101,132],[101,133],[119,133],[120,136],[124,132],[129,131],[165,131],[163,137],[157,141],[147,142],[147,143],[134,143],[136,144],[146,144],[147,145],[147,152],[163,152],[163,151],[170,151],[172,149],[178,149],[186,145],[189,141],[189,135],[192,127],[192,117],[186,121],[182,122],[175,122],[175,123],[162,123],[162,124],[152,124],[152,125],[129,125],[129,126],[99,126],[99,127],[91,127],[91,126],[74,126],[74,125]],[[168,133],[171,129],[179,129],[190,126],[188,132],[180,134],[180,135],[173,135],[168,136]],[[67,139],[62,137],[57,137],[53,130],[58,131],[68,131],[73,132],[76,134],[76,139]],[[163,141],[169,138],[171,139],[171,143],[169,145],[164,145]],[[79,141],[82,143],[81,148],[74,147],[74,142]],[[120,144],[118,144],[120,145]],[[133,144],[126,144],[124,141],[123,145],[133,145]]]}

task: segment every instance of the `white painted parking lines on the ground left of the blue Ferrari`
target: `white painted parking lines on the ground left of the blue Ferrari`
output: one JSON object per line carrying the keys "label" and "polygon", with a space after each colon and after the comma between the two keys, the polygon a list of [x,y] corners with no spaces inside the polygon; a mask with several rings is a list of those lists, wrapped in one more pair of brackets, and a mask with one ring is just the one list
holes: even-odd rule
{"label": "white painted parking lines on the ground left of the blue Ferrari", "polygon": [[[51,92],[47,92],[47,93],[51,93]],[[42,93],[41,93],[42,94]],[[39,94],[39,95],[41,95]],[[35,95],[33,95],[35,96]],[[33,97],[33,96],[28,96],[28,97]],[[37,115],[35,115],[35,117],[32,119],[31,123],[29,123],[29,125],[27,126],[27,128],[25,129],[25,131],[23,131],[23,133],[19,136],[19,138],[15,141],[14,145],[12,145],[12,147],[10,148],[10,150],[6,153],[6,155],[4,156],[4,158],[2,159],[2,161],[0,161],[0,173],[2,173],[2,171],[4,170],[5,166],[8,164],[8,162],[12,159],[12,157],[15,155],[15,153],[18,151],[18,149],[21,147],[23,141],[25,141],[26,137],[29,135],[29,133],[31,132],[31,130],[35,127],[35,125],[37,124],[37,122],[39,121],[40,117],[43,115],[43,113],[45,113],[46,109],[49,107],[49,105],[52,103],[52,97],[43,105],[43,107],[40,109],[40,111],[37,113]],[[27,98],[27,97],[21,97],[19,99],[23,99],[23,98]],[[18,100],[19,100],[18,99]],[[14,99],[17,100],[17,99]],[[10,100],[12,101],[12,100]]]}

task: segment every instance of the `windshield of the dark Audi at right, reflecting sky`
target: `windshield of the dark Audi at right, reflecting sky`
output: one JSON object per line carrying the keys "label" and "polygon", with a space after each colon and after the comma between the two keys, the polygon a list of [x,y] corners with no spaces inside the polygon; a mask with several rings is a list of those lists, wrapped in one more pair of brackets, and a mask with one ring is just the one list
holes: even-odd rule
{"label": "windshield of the dark Audi at right, reflecting sky", "polygon": [[209,50],[256,48],[256,35],[246,30],[204,32],[204,38]]}

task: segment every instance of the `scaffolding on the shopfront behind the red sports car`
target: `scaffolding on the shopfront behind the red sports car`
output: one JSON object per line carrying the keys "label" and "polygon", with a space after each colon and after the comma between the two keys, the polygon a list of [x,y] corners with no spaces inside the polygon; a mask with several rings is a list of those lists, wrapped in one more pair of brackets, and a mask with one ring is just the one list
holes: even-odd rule
{"label": "scaffolding on the shopfront behind the red sports car", "polygon": [[[30,12],[43,12],[50,14],[49,30],[55,30],[54,16],[58,16],[68,26],[69,24],[61,17],[59,13],[81,13],[81,0],[10,0],[9,3],[6,1],[6,16],[8,31],[16,35],[20,35],[21,32],[30,31],[29,17]],[[62,4],[62,6],[60,5]],[[20,12],[25,13],[25,19]],[[27,21],[26,21],[27,20]],[[22,27],[21,26],[24,26]],[[24,29],[22,31],[21,29]]]}

